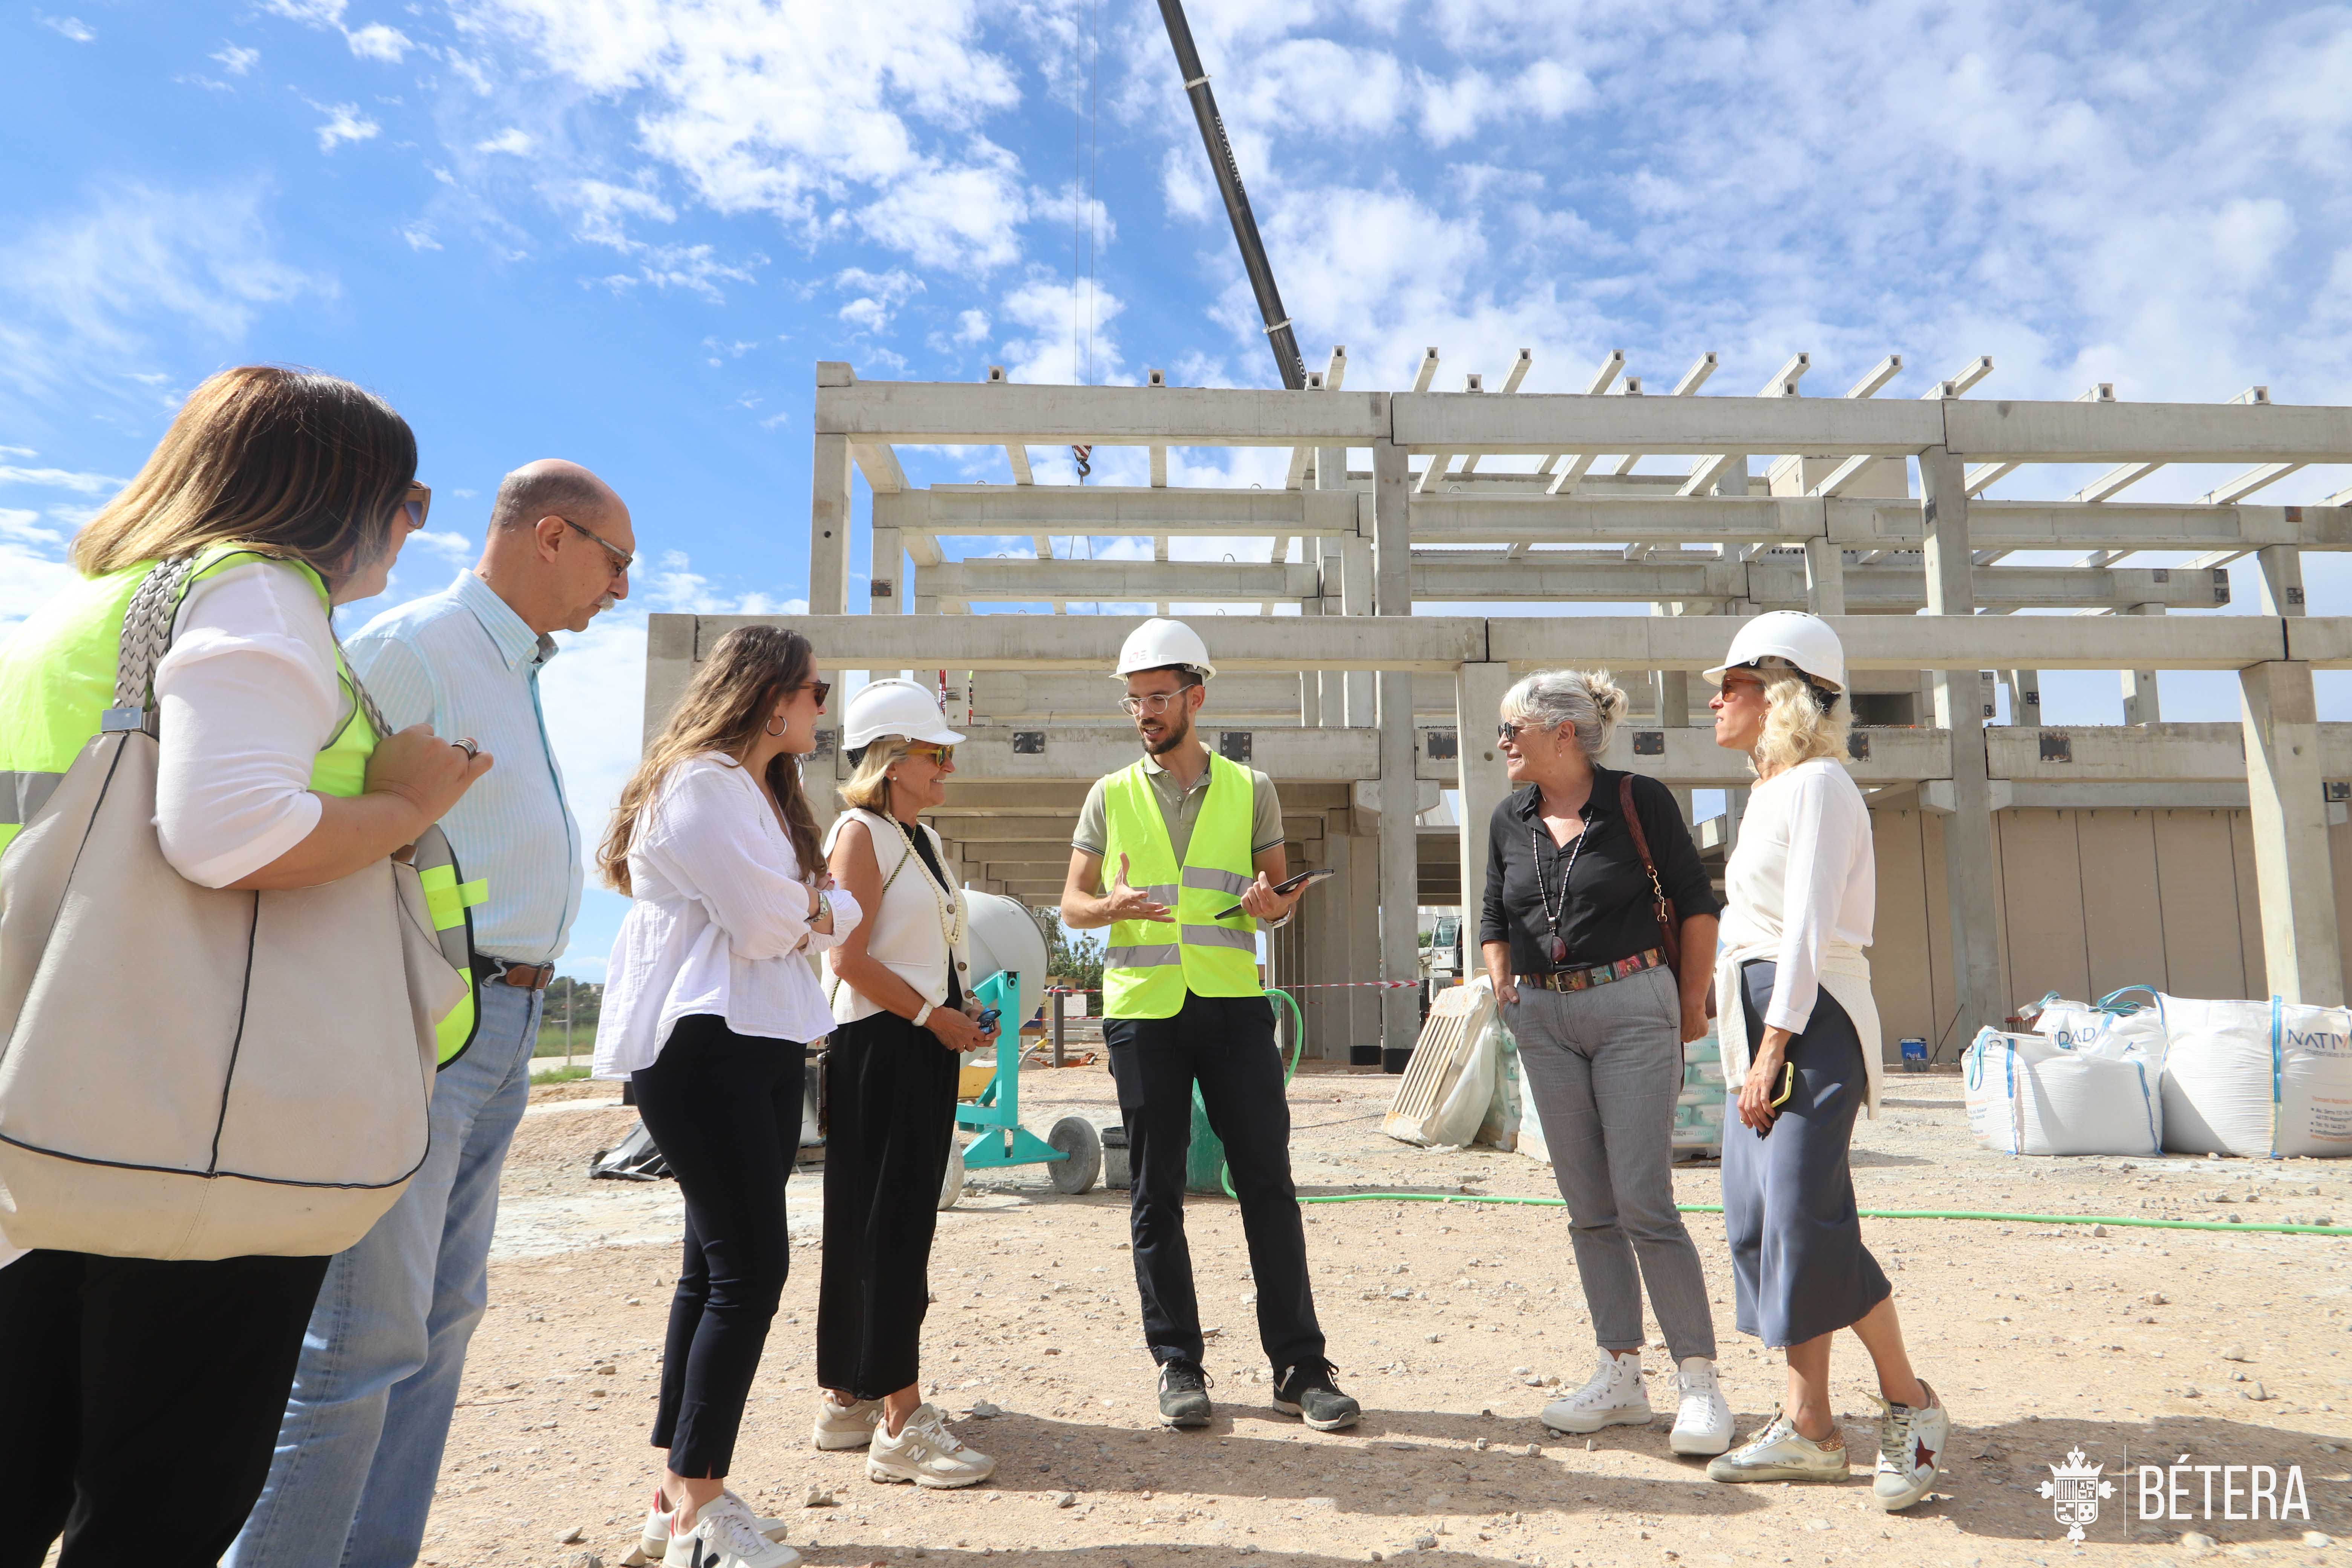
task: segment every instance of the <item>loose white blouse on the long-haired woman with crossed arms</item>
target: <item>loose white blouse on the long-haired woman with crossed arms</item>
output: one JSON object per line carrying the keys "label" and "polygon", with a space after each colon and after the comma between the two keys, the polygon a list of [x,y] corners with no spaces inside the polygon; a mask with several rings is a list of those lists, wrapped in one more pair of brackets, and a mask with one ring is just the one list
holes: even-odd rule
{"label": "loose white blouse on the long-haired woman with crossed arms", "polygon": [[833,931],[809,929],[811,875],[760,780],[731,757],[706,752],[670,769],[637,816],[628,882],[595,1077],[652,1067],[670,1027],[694,1013],[762,1039],[807,1044],[833,1032],[804,954],[840,945],[858,905],[833,891]]}

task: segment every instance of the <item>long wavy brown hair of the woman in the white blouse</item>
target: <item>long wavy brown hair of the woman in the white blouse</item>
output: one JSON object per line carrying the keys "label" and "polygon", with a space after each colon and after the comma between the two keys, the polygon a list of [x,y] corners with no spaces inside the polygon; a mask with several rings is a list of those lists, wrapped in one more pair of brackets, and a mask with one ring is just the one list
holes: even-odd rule
{"label": "long wavy brown hair of the woman in the white blouse", "polygon": [[[753,736],[767,726],[776,698],[809,684],[814,672],[816,649],[800,632],[788,632],[781,625],[739,625],[720,637],[710,658],[687,682],[684,696],[670,710],[670,722],[644,748],[637,771],[628,776],[628,788],[621,790],[621,804],[612,811],[612,830],[597,851],[604,886],[614,893],[628,891],[628,846],[637,835],[637,818],[654,804],[670,769],[703,752],[741,755]],[[800,757],[769,762],[767,788],[783,809],[783,825],[793,837],[800,872],[816,875],[821,858],[816,813],[800,788]]]}

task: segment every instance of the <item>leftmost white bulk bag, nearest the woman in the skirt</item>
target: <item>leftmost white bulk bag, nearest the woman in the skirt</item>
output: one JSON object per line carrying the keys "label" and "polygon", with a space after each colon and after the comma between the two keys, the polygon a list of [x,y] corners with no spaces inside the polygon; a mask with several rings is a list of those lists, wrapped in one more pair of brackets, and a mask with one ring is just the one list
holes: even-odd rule
{"label": "leftmost white bulk bag, nearest the woman in the skirt", "polygon": [[2002,1154],[2159,1154],[2157,1067],[2129,1048],[1980,1030],[1962,1058],[1969,1135]]}

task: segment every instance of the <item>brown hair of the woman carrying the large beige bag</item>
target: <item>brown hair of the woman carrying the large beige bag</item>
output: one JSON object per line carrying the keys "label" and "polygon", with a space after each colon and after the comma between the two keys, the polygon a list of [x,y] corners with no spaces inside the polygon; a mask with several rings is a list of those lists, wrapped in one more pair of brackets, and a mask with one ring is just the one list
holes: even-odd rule
{"label": "brown hair of the woman carrying the large beige bag", "polygon": [[101,576],[233,541],[348,574],[383,555],[414,480],[416,435],[374,393],[240,364],[188,393],[139,475],[73,536],[73,564]]}

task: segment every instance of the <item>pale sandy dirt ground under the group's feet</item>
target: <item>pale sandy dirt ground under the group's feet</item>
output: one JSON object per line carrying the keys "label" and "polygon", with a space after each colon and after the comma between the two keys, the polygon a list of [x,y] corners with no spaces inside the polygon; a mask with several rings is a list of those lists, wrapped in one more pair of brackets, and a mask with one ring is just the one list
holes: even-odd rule
{"label": "pale sandy dirt ground under the group's feet", "polygon": [[[1409,1192],[1552,1197],[1550,1171],[1486,1147],[1381,1135],[1397,1079],[1308,1065],[1291,1084],[1301,1197]],[[1101,1065],[1023,1074],[1033,1128],[1117,1121]],[[492,1302],[466,1363],[423,1561],[630,1561],[661,1455],[649,1448],[677,1272],[673,1182],[590,1180],[635,1112],[614,1084],[534,1093],[506,1168]],[[1305,1211],[1315,1293],[1362,1425],[1317,1434],[1272,1410],[1254,1286],[1230,1199],[1192,1199],[1188,1232],[1216,1420],[1157,1422],[1127,1241],[1127,1194],[1056,1194],[1037,1166],[976,1175],[941,1215],[924,1392],[997,1458],[976,1488],[866,1479],[863,1453],[816,1453],[814,1333],[821,1173],[788,1190],[793,1276],[767,1340],[731,1483],[781,1514],[807,1561],[962,1563],[1018,1552],[1084,1568],[1472,1563],[2049,1563],[2209,1549],[2333,1559],[2352,1533],[2347,1241],[2239,1225],[2352,1222],[2345,1166],[2317,1159],[2016,1159],[1969,1143],[1962,1081],[1891,1074],[1856,1133],[1870,1208],[2213,1220],[2145,1229],[1987,1220],[1863,1220],[1896,1286],[1919,1373],[1955,1427],[1938,1493],[1910,1514],[1870,1502],[1877,1406],[1844,1335],[1832,1380],[1853,1458],[1844,1486],[1719,1486],[1668,1453],[1670,1363],[1646,1352],[1658,1420],[1555,1436],[1538,1410],[1592,1371],[1595,1347],[1559,1208],[1362,1201]],[[1682,1204],[1715,1204],[1712,1164],[1677,1166]],[[1722,1375],[1745,1436],[1783,1371],[1736,1333],[1722,1218],[1691,1213]],[[1656,1328],[1651,1326],[1651,1333]],[[2096,1519],[2067,1542],[2044,1483],[2100,1465]],[[2157,1493],[2140,1465],[2164,1467]],[[2246,1479],[2291,1467],[2310,1516],[2230,1519]],[[2176,1490],[2169,1490],[2176,1488]],[[2082,1490],[2082,1488],[2077,1488]],[[2065,1488],[2060,1488],[2063,1497]],[[2211,1497],[2211,1516],[2204,1505]],[[2145,1509],[2164,1514],[2143,1519]],[[2074,1507],[2077,1516],[2082,1505]]]}

